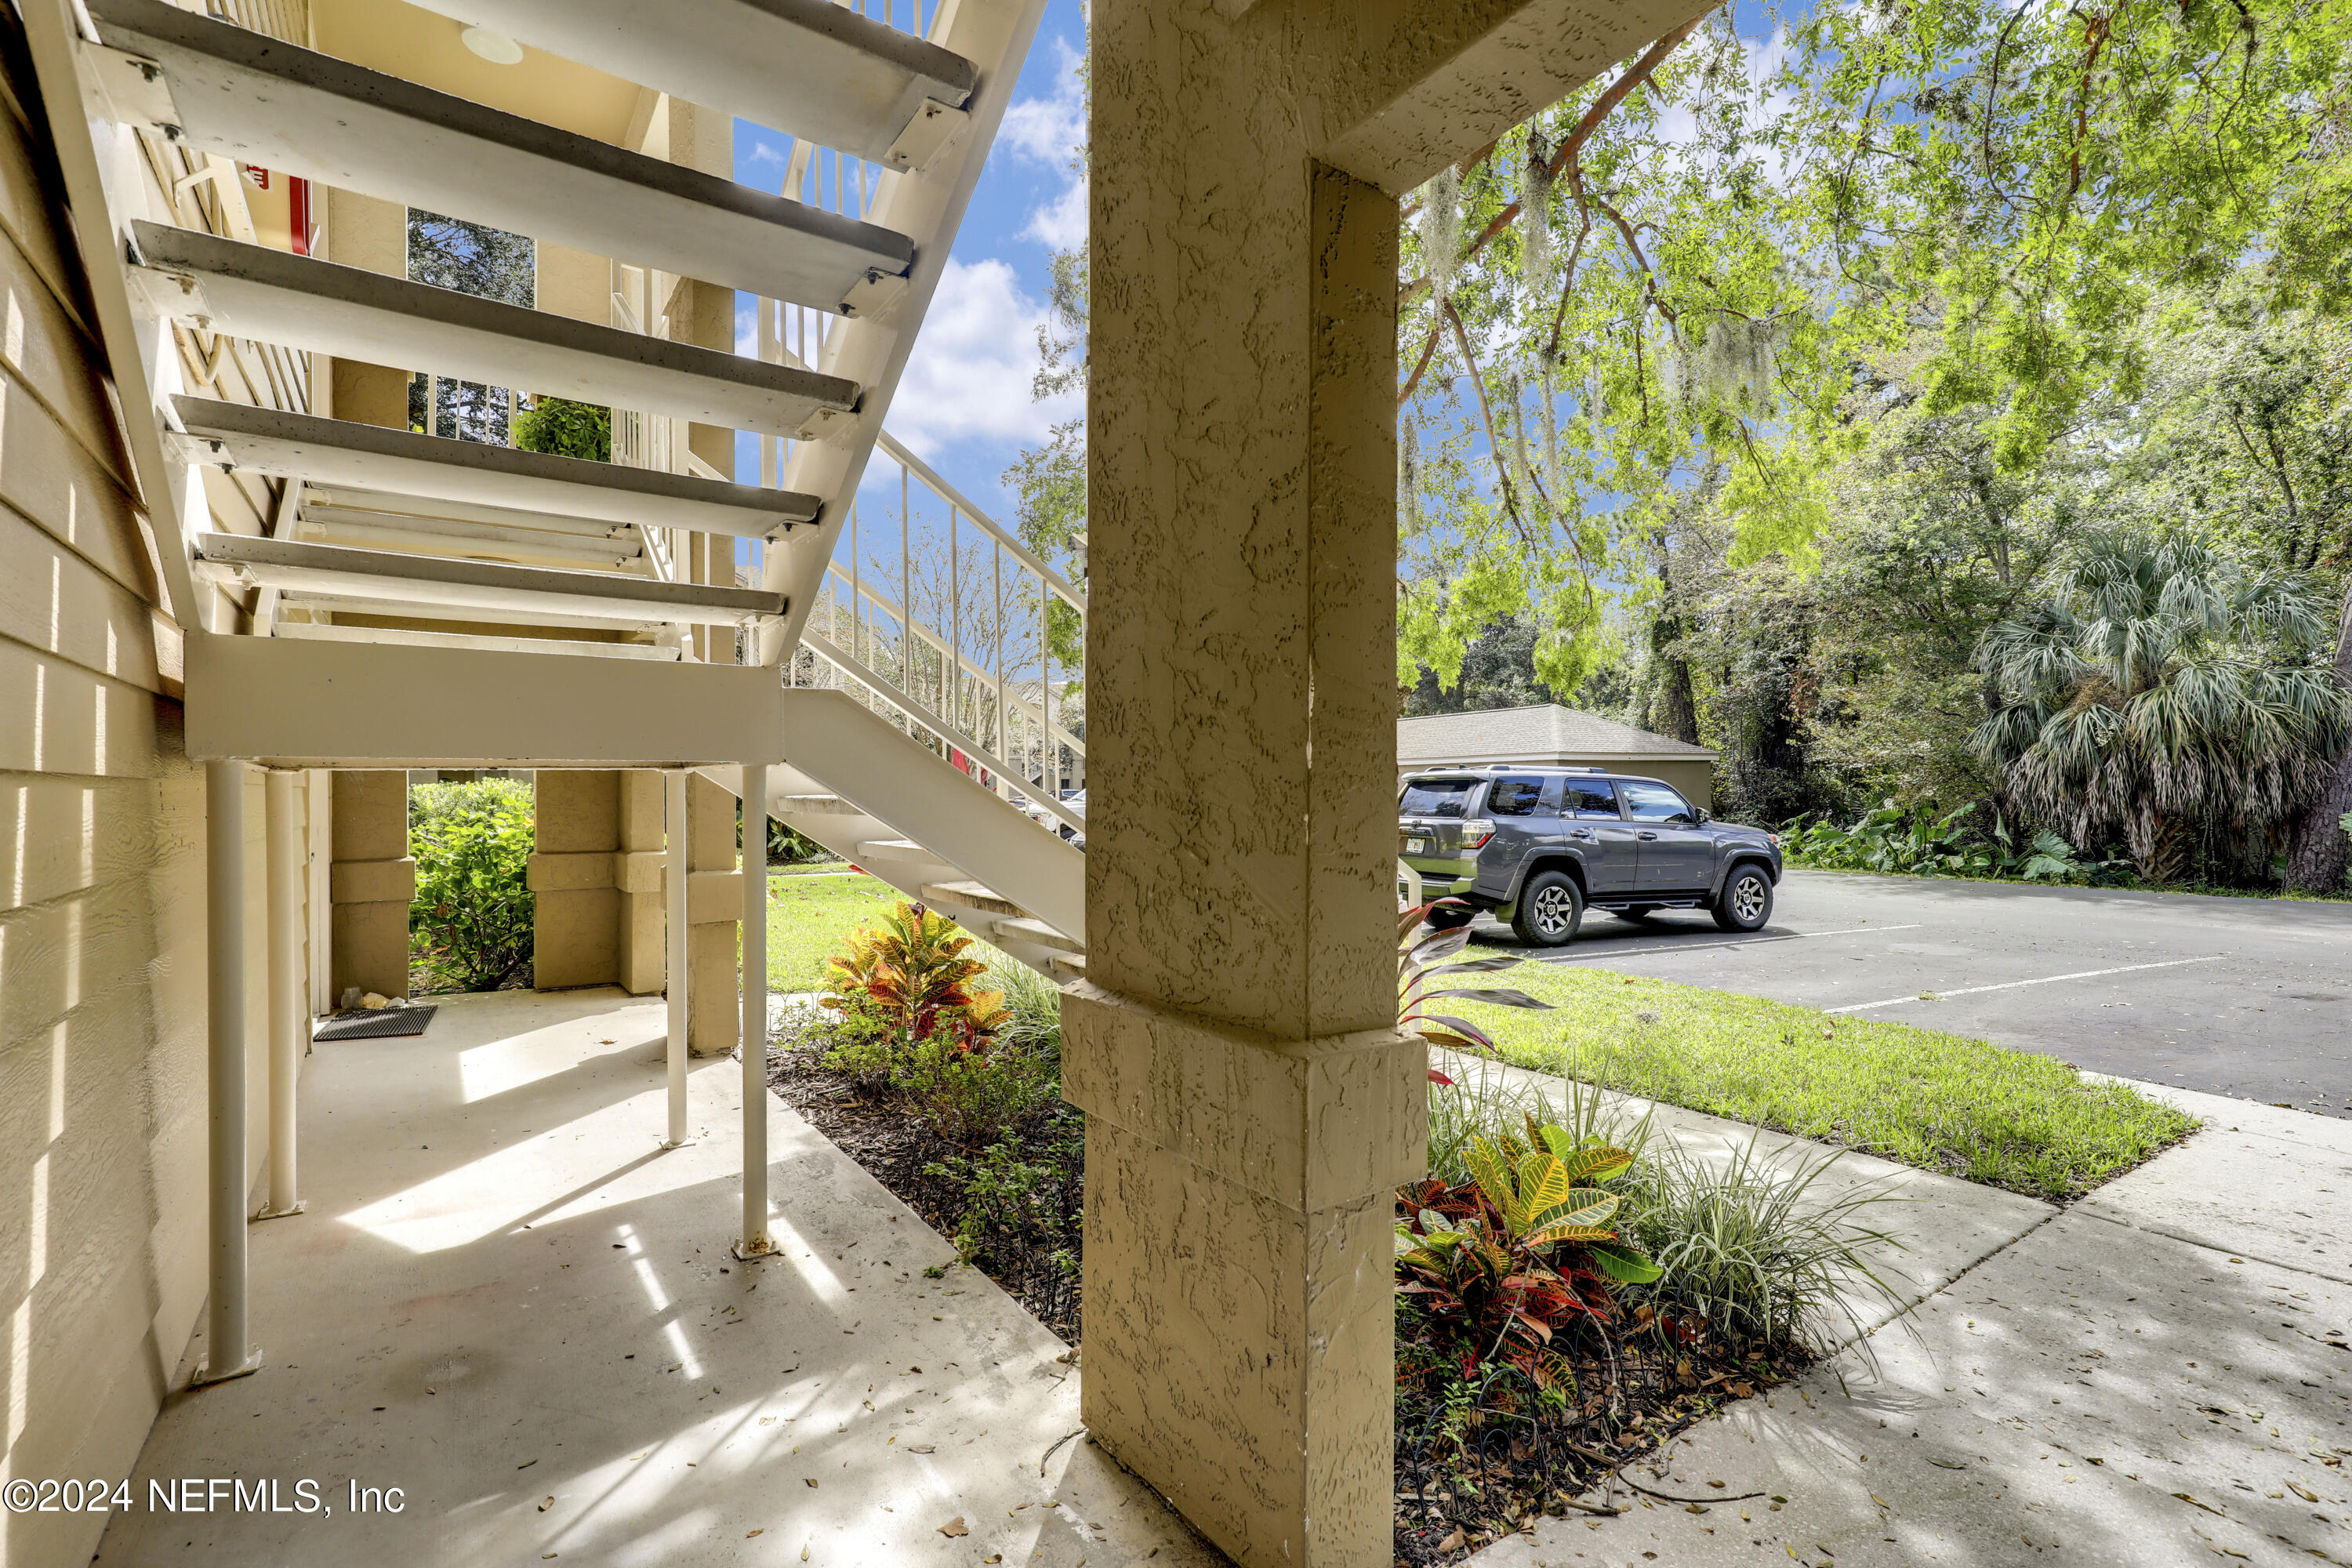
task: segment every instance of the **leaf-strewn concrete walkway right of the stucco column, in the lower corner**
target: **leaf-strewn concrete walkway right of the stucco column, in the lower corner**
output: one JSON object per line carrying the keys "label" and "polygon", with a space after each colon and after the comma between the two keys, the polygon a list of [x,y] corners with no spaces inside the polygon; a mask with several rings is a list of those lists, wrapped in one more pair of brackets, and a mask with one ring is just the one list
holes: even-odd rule
{"label": "leaf-strewn concrete walkway right of the stucco column, in the lower corner", "polygon": [[1846,1349],[1632,1472],[1689,1502],[1545,1519],[1472,1561],[2352,1563],[2352,1126],[2143,1088],[2206,1126],[2070,1208],[1903,1171],[1922,1201],[1870,1222],[1912,1246],[1893,1262],[1924,1305],[1875,1328],[1875,1371]]}

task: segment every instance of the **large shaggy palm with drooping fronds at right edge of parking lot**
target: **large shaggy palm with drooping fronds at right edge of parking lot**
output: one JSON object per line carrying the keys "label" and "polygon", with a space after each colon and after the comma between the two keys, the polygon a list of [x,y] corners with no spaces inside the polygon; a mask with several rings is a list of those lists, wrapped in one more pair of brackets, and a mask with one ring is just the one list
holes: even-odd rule
{"label": "large shaggy palm with drooping fronds at right edge of parking lot", "polygon": [[2077,844],[2122,832],[2145,882],[2176,882],[2194,825],[2251,849],[2314,799],[2352,738],[2331,635],[2293,574],[2098,538],[1985,632],[2004,701],[1971,745],[2027,811]]}

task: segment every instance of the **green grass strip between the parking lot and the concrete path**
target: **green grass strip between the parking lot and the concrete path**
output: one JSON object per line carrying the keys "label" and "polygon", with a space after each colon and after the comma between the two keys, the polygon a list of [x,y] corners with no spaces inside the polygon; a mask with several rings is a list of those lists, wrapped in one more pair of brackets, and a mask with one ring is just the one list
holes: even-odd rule
{"label": "green grass strip between the parking lot and the concrete path", "polygon": [[1571,964],[1470,983],[1482,980],[1552,1004],[1461,1009],[1522,1067],[2042,1199],[2089,1192],[2197,1126],[2131,1088],[1966,1034]]}

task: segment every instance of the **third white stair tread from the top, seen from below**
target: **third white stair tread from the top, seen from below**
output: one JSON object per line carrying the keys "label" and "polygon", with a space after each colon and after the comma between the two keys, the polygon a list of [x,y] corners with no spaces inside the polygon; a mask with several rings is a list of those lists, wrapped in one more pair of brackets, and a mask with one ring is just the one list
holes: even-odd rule
{"label": "third white stair tread from the top, seen from below", "polygon": [[847,428],[858,404],[856,383],[840,376],[193,228],[134,221],[132,244],[151,308],[207,331],[795,440]]}

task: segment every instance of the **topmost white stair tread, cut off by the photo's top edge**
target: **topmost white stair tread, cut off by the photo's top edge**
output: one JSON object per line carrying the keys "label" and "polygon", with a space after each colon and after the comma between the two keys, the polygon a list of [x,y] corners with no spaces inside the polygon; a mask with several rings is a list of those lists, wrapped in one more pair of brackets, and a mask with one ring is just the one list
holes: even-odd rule
{"label": "topmost white stair tread, cut off by the photo's top edge", "polygon": [[971,61],[833,0],[416,0],[468,26],[882,162],[924,99],[962,108]]}

